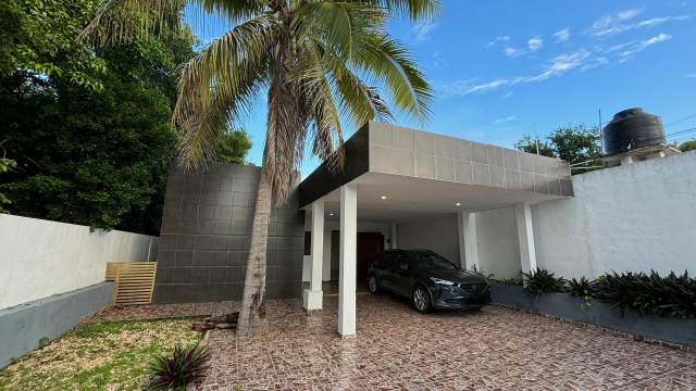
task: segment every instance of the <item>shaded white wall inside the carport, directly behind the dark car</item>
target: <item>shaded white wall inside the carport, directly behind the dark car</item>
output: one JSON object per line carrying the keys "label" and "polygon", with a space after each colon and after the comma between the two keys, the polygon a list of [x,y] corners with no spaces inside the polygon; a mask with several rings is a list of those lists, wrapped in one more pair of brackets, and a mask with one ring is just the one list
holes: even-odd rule
{"label": "shaded white wall inside the carport, directly behind the dark car", "polygon": [[458,232],[457,215],[452,214],[436,220],[399,224],[397,241],[399,249],[433,250],[459,265]]}

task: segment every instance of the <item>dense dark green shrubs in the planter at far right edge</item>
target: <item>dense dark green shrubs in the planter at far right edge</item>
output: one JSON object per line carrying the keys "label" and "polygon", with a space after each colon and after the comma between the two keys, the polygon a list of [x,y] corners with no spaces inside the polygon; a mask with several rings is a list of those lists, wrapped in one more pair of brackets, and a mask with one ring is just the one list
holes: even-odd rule
{"label": "dense dark green shrubs in the planter at far right edge", "polygon": [[696,317],[696,280],[684,272],[660,277],[655,270],[645,273],[611,273],[599,277],[595,297],[642,315]]}

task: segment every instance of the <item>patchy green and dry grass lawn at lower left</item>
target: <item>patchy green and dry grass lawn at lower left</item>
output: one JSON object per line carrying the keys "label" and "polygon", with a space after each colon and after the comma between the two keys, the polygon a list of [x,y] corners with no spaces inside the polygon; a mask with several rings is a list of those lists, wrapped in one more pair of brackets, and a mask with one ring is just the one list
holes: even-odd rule
{"label": "patchy green and dry grass lawn at lower left", "polygon": [[156,355],[200,340],[192,319],[80,326],[0,370],[0,389],[141,390]]}

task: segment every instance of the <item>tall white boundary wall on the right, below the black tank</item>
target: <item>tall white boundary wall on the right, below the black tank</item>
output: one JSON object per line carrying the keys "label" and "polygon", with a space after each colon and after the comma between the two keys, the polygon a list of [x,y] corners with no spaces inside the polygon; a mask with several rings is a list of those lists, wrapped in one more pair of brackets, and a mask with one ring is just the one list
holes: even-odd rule
{"label": "tall white boundary wall on the right, below the black tank", "polygon": [[576,175],[573,188],[533,207],[539,267],[696,274],[696,152]]}

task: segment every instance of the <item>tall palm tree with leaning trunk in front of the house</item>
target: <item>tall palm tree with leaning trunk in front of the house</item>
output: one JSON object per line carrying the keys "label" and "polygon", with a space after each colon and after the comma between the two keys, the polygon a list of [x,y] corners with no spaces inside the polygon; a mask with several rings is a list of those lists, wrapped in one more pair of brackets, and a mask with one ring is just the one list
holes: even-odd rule
{"label": "tall palm tree with leaning trunk in front of the house", "polygon": [[[438,0],[191,2],[203,16],[199,21],[216,15],[234,27],[182,68],[173,115],[181,133],[181,164],[196,168],[214,159],[221,131],[247,112],[259,92],[268,97],[263,163],[237,325],[238,335],[252,335],[265,318],[271,207],[294,188],[304,146],[340,169],[344,125],[390,119],[388,103],[419,121],[427,117],[431,88],[408,50],[385,33],[385,23],[391,15],[427,20]],[[84,35],[110,45],[165,31],[167,23],[181,22],[185,3],[105,0]]]}

